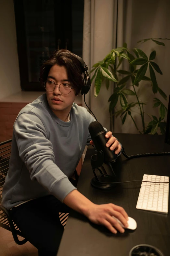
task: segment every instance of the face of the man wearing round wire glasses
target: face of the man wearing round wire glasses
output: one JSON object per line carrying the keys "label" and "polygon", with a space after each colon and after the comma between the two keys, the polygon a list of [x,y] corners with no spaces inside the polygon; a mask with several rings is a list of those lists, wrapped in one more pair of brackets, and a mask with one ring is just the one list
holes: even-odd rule
{"label": "face of the man wearing round wire glasses", "polygon": [[[57,64],[50,68],[47,79],[53,81],[55,84],[70,84],[65,66],[59,66]],[[56,85],[55,90],[52,92],[46,91],[46,94],[50,108],[56,115],[57,112],[60,112],[61,114],[62,111],[63,113],[66,113],[67,111],[69,113],[76,98],[73,89],[71,89],[69,94],[62,94],[59,90],[59,85]]]}

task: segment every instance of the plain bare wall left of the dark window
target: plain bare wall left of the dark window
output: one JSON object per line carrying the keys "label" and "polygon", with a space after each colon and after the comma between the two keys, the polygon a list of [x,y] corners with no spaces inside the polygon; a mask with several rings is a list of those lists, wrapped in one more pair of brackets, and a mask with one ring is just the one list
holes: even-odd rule
{"label": "plain bare wall left of the dark window", "polygon": [[0,0],[0,99],[21,91],[13,0]]}

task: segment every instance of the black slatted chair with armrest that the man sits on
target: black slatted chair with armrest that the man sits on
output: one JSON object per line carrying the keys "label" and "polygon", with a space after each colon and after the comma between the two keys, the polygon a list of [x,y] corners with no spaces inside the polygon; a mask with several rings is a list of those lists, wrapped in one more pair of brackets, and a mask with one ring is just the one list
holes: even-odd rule
{"label": "black slatted chair with armrest that the man sits on", "polygon": [[[5,183],[5,179],[9,168],[11,141],[12,139],[0,143],[0,227],[11,231],[15,243],[18,245],[23,245],[28,240],[22,235],[21,230],[11,219],[10,212],[1,205],[2,188]],[[20,241],[17,235],[22,236],[24,239]]]}

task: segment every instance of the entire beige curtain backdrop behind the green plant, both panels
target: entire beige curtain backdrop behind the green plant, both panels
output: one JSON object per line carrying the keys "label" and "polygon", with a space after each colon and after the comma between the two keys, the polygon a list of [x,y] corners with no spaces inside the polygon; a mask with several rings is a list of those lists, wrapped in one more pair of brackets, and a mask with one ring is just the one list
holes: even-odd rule
{"label": "entire beige curtain backdrop behind the green plant, both panels", "polygon": [[[118,3],[118,12],[117,12]],[[127,43],[128,48],[140,47],[147,55],[155,49],[155,62],[160,66],[163,76],[157,74],[158,86],[167,94],[170,94],[169,65],[170,65],[170,41],[164,41],[166,47],[147,42],[137,45],[136,42],[145,38],[170,38],[170,1],[169,0],[85,0],[84,1],[84,27],[83,27],[83,59],[92,69],[92,65],[102,60],[112,49]],[[117,22],[116,22],[117,21]],[[117,25],[117,33],[116,33]],[[126,63],[121,67],[126,69]],[[146,75],[149,76],[149,70]],[[147,89],[147,91],[145,90]],[[106,90],[102,84],[98,97],[94,97],[94,82],[91,92],[86,95],[86,102],[91,107],[99,122],[107,129],[110,128],[108,98],[113,92],[113,85]],[[153,109],[152,90],[146,81],[142,81],[138,89],[139,97],[147,103],[145,112],[158,115],[158,109]],[[160,98],[167,107],[168,101]],[[129,96],[130,101],[134,100]],[[82,102],[83,99],[82,99]],[[117,110],[120,106],[117,106]],[[137,111],[137,110],[136,110]],[[139,114],[134,112],[134,119],[141,129]],[[145,114],[145,122],[150,119]],[[114,120],[114,132],[138,133],[132,120],[127,117],[122,126],[121,119]]]}

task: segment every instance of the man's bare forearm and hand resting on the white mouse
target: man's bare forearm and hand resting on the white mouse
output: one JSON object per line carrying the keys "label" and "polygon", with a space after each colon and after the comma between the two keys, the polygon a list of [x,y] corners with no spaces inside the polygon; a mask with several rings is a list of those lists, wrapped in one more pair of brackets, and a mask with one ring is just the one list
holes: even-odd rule
{"label": "man's bare forearm and hand resting on the white mouse", "polygon": [[104,225],[114,234],[117,233],[117,230],[123,233],[124,229],[112,216],[118,218],[125,227],[128,226],[128,214],[122,207],[112,203],[101,205],[94,204],[77,190],[70,192],[64,198],[64,203],[73,210],[83,213],[93,223]]}

